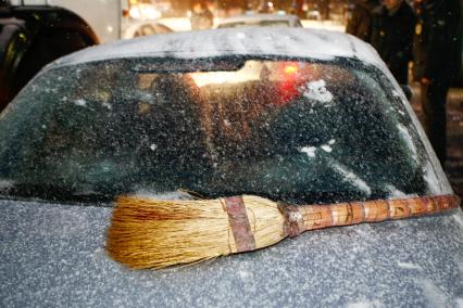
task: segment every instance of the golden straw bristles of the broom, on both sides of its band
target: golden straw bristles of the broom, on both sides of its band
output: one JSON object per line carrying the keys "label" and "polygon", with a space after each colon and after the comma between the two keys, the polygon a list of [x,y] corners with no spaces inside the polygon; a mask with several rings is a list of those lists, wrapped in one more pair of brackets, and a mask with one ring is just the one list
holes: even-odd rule
{"label": "golden straw bristles of the broom, on both sides of its band", "polygon": [[[285,238],[276,204],[243,196],[255,247]],[[164,268],[237,253],[221,200],[149,201],[121,197],[108,232],[112,258],[132,268]]]}

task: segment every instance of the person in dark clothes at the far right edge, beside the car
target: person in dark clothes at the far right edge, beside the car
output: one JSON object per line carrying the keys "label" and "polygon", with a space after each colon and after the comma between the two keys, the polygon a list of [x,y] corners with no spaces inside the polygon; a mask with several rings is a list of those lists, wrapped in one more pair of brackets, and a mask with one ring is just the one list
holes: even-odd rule
{"label": "person in dark clothes at the far right edge, beside the car", "polygon": [[424,129],[443,166],[447,93],[459,67],[460,0],[415,0],[415,5],[413,76],[421,84]]}

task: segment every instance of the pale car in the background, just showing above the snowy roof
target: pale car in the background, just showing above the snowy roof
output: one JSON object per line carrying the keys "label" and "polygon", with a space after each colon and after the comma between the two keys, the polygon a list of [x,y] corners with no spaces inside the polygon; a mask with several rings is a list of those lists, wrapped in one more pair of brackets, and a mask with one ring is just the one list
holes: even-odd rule
{"label": "pale car in the background, just showing above the snowy roof", "polygon": [[285,14],[245,14],[223,18],[218,22],[217,28],[238,28],[251,26],[271,27],[302,27],[301,22],[295,15]]}

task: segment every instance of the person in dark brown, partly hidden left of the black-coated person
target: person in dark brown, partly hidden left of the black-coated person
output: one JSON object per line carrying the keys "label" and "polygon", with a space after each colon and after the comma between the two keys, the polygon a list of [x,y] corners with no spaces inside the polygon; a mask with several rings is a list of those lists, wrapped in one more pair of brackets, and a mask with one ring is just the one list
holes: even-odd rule
{"label": "person in dark brown, partly hidden left of the black-coated person", "polygon": [[346,31],[370,42],[372,13],[378,5],[378,0],[358,0],[348,20]]}

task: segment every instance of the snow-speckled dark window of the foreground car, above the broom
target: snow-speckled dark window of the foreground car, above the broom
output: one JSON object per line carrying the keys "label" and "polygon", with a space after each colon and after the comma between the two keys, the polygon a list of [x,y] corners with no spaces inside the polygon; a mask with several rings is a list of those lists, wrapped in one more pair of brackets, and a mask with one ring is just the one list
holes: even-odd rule
{"label": "snow-speckled dark window of the foreground car, above the broom", "polygon": [[185,190],[289,203],[436,193],[392,92],[377,69],[346,61],[54,68],[0,119],[0,192],[95,201]]}

